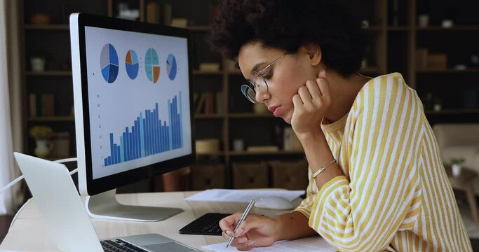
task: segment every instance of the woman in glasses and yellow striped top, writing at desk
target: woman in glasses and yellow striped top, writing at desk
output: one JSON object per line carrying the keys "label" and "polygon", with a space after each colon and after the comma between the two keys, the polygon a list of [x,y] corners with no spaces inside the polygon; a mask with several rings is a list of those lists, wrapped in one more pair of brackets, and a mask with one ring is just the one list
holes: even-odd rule
{"label": "woman in glasses and yellow striped top, writing at desk", "polygon": [[339,1],[229,0],[210,45],[243,94],[292,125],[309,162],[289,214],[220,221],[232,246],[321,235],[339,251],[471,251],[421,101],[400,73],[360,75],[359,22]]}

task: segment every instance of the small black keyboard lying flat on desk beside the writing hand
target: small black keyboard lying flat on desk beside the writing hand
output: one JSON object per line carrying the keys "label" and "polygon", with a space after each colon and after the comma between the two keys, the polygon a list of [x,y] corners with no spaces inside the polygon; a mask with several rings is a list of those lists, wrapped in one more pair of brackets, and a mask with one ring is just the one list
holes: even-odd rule
{"label": "small black keyboard lying flat on desk beside the writing hand", "polygon": [[231,214],[208,213],[180,229],[182,235],[221,235],[220,220]]}

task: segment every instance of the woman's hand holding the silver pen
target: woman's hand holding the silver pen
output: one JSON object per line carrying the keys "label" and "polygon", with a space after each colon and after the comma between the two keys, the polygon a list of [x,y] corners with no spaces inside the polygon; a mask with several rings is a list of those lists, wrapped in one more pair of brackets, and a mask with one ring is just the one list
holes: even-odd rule
{"label": "woman's hand holding the silver pen", "polygon": [[[234,228],[240,218],[241,213],[236,213],[220,221],[220,228],[225,239],[233,236]],[[238,248],[238,250],[249,250],[257,246],[270,246],[276,241],[277,229],[276,220],[267,216],[250,214],[236,230],[236,238],[231,242],[231,246]]]}

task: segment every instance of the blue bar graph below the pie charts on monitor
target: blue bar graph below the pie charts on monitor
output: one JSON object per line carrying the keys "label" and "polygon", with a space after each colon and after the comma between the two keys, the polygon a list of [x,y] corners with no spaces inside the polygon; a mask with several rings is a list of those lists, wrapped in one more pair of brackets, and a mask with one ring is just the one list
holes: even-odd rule
{"label": "blue bar graph below the pie charts on monitor", "polygon": [[[126,126],[119,135],[117,144],[114,133],[109,133],[110,155],[104,158],[104,166],[182,148],[181,92],[173,99],[168,99],[165,108],[168,108],[168,115],[160,115],[158,103],[153,109],[141,111],[132,125]],[[160,120],[160,116],[163,120]]]}

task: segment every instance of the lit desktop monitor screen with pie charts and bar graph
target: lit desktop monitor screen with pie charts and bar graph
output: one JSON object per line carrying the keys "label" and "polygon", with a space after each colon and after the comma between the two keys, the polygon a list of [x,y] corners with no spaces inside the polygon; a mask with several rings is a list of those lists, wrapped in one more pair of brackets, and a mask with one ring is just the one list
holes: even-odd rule
{"label": "lit desktop monitor screen with pie charts and bar graph", "polygon": [[191,154],[187,38],[85,27],[93,179]]}

